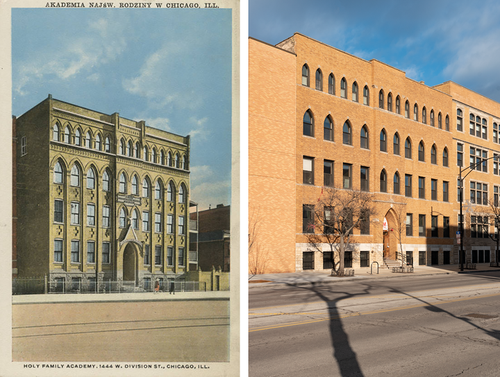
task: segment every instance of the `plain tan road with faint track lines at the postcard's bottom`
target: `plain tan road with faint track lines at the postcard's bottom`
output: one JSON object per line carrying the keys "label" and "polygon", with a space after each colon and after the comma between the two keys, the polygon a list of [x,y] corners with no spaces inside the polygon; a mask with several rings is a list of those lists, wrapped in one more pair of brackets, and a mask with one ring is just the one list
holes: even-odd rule
{"label": "plain tan road with faint track lines at the postcard's bottom", "polygon": [[225,362],[229,301],[13,305],[12,360]]}

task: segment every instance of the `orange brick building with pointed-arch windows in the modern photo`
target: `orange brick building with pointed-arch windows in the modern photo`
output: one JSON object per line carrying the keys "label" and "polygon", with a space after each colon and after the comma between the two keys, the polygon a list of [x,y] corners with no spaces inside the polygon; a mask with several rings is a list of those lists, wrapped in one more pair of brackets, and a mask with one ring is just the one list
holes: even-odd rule
{"label": "orange brick building with pointed-arch windows in the modern photo", "polygon": [[[348,266],[383,263],[384,257],[458,263],[459,165],[500,154],[499,125],[499,103],[454,82],[428,87],[383,62],[299,33],[276,46],[251,38],[251,272],[331,268],[326,253],[308,245],[305,227],[306,206],[318,200],[323,186],[376,194],[378,213],[363,234],[354,231]],[[481,207],[483,198],[499,193],[498,162],[479,164],[464,186],[465,199]],[[401,206],[402,250],[394,235]],[[494,243],[470,224],[467,259],[493,261]]]}

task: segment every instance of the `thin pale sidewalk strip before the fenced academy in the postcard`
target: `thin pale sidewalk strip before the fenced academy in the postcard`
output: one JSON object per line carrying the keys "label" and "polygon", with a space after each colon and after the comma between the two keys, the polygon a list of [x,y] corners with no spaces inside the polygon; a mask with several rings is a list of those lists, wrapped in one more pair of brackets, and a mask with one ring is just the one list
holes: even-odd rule
{"label": "thin pale sidewalk strip before the fenced academy in the postcard", "polygon": [[15,304],[60,304],[66,302],[133,302],[133,301],[207,301],[229,300],[231,292],[140,292],[140,293],[74,293],[48,295],[16,295],[12,296],[12,305]]}

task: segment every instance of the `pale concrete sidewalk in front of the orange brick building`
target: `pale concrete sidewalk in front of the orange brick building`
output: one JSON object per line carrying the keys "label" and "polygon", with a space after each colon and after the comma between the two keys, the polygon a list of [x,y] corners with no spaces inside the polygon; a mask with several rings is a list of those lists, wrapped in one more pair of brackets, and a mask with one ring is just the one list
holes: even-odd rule
{"label": "pale concrete sidewalk in front of the orange brick building", "polygon": [[500,272],[498,267],[490,267],[490,263],[477,263],[476,270],[460,271],[460,265],[440,265],[428,266],[417,265],[413,268],[412,273],[392,272],[392,269],[384,268],[378,269],[374,266],[373,274],[370,274],[370,268],[356,268],[354,269],[353,277],[331,277],[331,270],[317,270],[314,272],[292,272],[283,274],[260,274],[251,276],[249,275],[249,289],[259,288],[263,286],[274,286],[277,284],[286,284],[288,286],[307,286],[323,285],[331,283],[340,283],[341,281],[353,280],[366,280],[366,279],[392,279],[398,277],[415,277],[426,275],[438,274],[469,274],[474,272]]}

